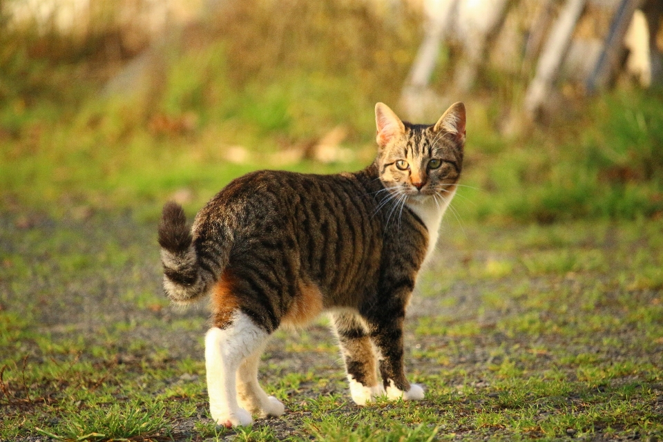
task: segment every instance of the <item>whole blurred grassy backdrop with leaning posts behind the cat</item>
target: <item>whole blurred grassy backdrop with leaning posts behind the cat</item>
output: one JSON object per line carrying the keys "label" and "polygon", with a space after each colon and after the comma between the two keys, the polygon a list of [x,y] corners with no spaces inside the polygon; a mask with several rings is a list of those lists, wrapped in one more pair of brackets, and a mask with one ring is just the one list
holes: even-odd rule
{"label": "whole blurred grassy backdrop with leaning posts behind the cat", "polygon": [[[660,1],[0,0],[0,206],[189,213],[468,108],[460,222],[663,218]],[[30,216],[19,223],[30,224]]]}

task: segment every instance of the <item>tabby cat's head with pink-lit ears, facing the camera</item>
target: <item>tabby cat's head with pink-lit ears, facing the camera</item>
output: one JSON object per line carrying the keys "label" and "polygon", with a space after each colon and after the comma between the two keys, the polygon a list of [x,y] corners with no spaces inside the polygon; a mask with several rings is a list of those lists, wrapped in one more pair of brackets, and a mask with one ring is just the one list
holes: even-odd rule
{"label": "tabby cat's head with pink-lit ears, facing the camera", "polygon": [[380,179],[394,194],[427,199],[455,189],[463,166],[465,105],[452,104],[436,124],[401,122],[383,103],[375,105]]}

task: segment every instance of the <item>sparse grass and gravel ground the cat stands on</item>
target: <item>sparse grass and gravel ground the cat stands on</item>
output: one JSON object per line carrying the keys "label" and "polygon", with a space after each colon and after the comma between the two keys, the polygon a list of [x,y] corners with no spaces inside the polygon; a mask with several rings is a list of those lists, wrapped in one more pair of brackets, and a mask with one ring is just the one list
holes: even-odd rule
{"label": "sparse grass and gravel ground the cat stands on", "polygon": [[156,247],[145,245],[154,225],[113,216],[26,229],[3,215],[0,439],[663,436],[658,223],[461,230],[448,220],[407,320],[424,401],[352,405],[321,322],[279,332],[267,349],[262,383],[287,413],[233,431],[206,410],[206,312],[164,304]]}

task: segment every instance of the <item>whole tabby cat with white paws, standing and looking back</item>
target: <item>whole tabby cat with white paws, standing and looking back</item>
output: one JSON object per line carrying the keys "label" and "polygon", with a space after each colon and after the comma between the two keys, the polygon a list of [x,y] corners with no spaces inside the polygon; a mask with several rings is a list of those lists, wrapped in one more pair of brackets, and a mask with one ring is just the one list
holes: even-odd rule
{"label": "whole tabby cat with white paws, standing and looking back", "polygon": [[355,403],[423,398],[403,373],[403,319],[457,188],[465,106],[432,126],[401,122],[382,103],[375,115],[378,153],[362,171],[249,173],[215,195],[191,229],[182,207],[164,206],[166,294],[178,304],[211,296],[205,363],[219,425],[283,413],[258,384],[260,354],[278,327],[323,311]]}

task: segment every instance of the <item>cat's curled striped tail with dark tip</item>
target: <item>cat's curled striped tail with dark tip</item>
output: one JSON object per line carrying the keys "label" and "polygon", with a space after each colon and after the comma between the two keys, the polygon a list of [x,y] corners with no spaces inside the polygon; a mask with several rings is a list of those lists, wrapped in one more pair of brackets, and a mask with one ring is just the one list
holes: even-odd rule
{"label": "cat's curled striped tail with dark tip", "polygon": [[191,230],[186,226],[186,215],[176,202],[167,202],[164,206],[159,224],[159,245],[166,296],[177,304],[189,304],[207,294],[216,278],[200,267]]}

